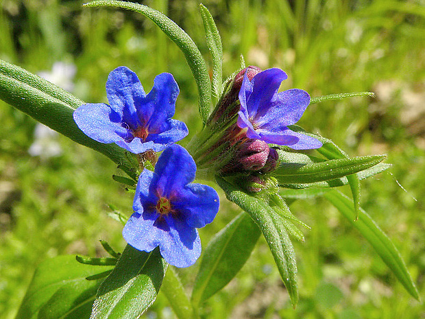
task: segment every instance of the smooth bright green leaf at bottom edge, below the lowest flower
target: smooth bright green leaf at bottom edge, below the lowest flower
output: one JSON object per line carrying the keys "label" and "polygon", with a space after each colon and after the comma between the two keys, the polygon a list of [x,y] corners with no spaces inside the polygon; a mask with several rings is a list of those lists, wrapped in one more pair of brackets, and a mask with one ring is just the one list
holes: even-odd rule
{"label": "smooth bright green leaf at bottom edge, below the lowest flower", "polygon": [[184,292],[184,287],[173,267],[167,269],[167,274],[162,281],[161,292],[167,297],[178,319],[195,318],[191,301]]}

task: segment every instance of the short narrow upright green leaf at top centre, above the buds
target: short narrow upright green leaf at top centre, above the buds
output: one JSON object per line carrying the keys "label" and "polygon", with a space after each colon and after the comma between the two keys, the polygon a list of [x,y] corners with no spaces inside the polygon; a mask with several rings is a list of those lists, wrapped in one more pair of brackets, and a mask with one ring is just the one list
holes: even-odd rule
{"label": "short narrow upright green leaf at top centre, above the buds", "polygon": [[206,43],[213,57],[213,93],[218,98],[223,93],[223,71],[221,69],[223,63],[223,45],[221,44],[221,37],[213,16],[202,3],[199,3],[199,10],[201,11],[202,21],[204,22]]}

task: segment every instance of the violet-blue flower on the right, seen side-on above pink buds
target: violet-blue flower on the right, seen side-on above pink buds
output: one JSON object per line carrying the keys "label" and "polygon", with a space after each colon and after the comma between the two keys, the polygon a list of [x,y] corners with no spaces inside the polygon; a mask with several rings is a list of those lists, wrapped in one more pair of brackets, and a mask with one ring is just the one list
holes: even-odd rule
{"label": "violet-blue flower on the right, seen side-on above pink buds", "polygon": [[298,88],[278,93],[280,83],[287,78],[277,68],[262,71],[251,81],[245,75],[239,91],[237,125],[247,130],[250,139],[287,145],[294,150],[319,148],[321,142],[314,137],[287,128],[301,118],[310,103],[310,95]]}

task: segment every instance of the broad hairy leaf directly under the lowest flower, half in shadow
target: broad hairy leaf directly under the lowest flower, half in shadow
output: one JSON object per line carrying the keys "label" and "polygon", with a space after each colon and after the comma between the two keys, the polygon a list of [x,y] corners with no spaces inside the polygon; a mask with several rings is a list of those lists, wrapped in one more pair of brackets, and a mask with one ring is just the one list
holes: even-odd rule
{"label": "broad hairy leaf directly under the lowest flower, half in shadow", "polygon": [[99,287],[90,318],[138,318],[150,307],[167,270],[159,249],[142,252],[127,245],[117,266]]}

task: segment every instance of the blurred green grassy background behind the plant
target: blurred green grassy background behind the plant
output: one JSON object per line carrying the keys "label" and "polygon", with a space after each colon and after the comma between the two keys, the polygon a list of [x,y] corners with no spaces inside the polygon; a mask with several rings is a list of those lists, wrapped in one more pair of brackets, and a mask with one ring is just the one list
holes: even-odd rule
{"label": "blurred green grassy background behind the plant", "polygon": [[[180,86],[175,118],[188,124],[188,141],[200,128],[197,90],[178,48],[140,14],[82,3],[0,1],[0,58],[45,72],[86,102],[106,102],[106,78],[120,65],[138,74],[145,91],[158,73],[173,73]],[[185,29],[211,64],[197,1],[141,3]],[[282,89],[303,88],[313,97],[376,93],[309,106],[299,124],[351,156],[388,153],[393,166],[362,182],[361,204],[398,247],[424,298],[425,1],[204,5],[221,33],[225,77],[240,68],[243,54],[247,65],[284,69],[289,80]],[[109,205],[130,215],[132,194],[112,180],[119,171],[108,158],[59,135],[43,138],[39,128],[34,134],[36,121],[1,101],[0,125],[0,318],[14,318],[40,261],[104,255],[98,239],[123,249],[122,226],[108,216]],[[297,309],[261,239],[236,279],[208,300],[204,318],[425,318],[424,305],[328,202],[298,201],[291,209],[311,226],[306,241],[295,243]],[[200,231],[204,246],[236,213],[223,198],[215,222]],[[196,267],[179,270],[188,289]],[[162,294],[145,318],[174,318]]]}

